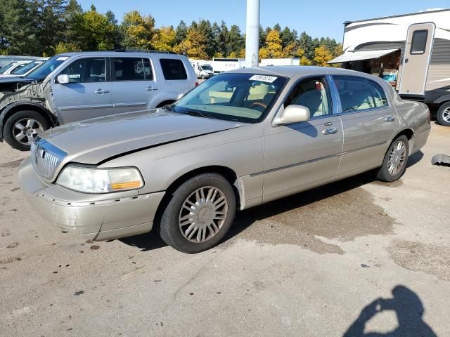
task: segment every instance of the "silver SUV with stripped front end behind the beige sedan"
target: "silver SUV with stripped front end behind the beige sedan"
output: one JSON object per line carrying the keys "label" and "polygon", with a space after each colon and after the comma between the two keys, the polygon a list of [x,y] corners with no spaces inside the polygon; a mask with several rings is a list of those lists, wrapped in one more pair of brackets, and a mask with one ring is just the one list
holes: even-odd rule
{"label": "silver SUV with stripped front end behind the beige sedan", "polygon": [[27,80],[32,83],[0,93],[0,140],[24,151],[53,126],[162,107],[197,84],[186,56],[161,51],[65,53]]}

